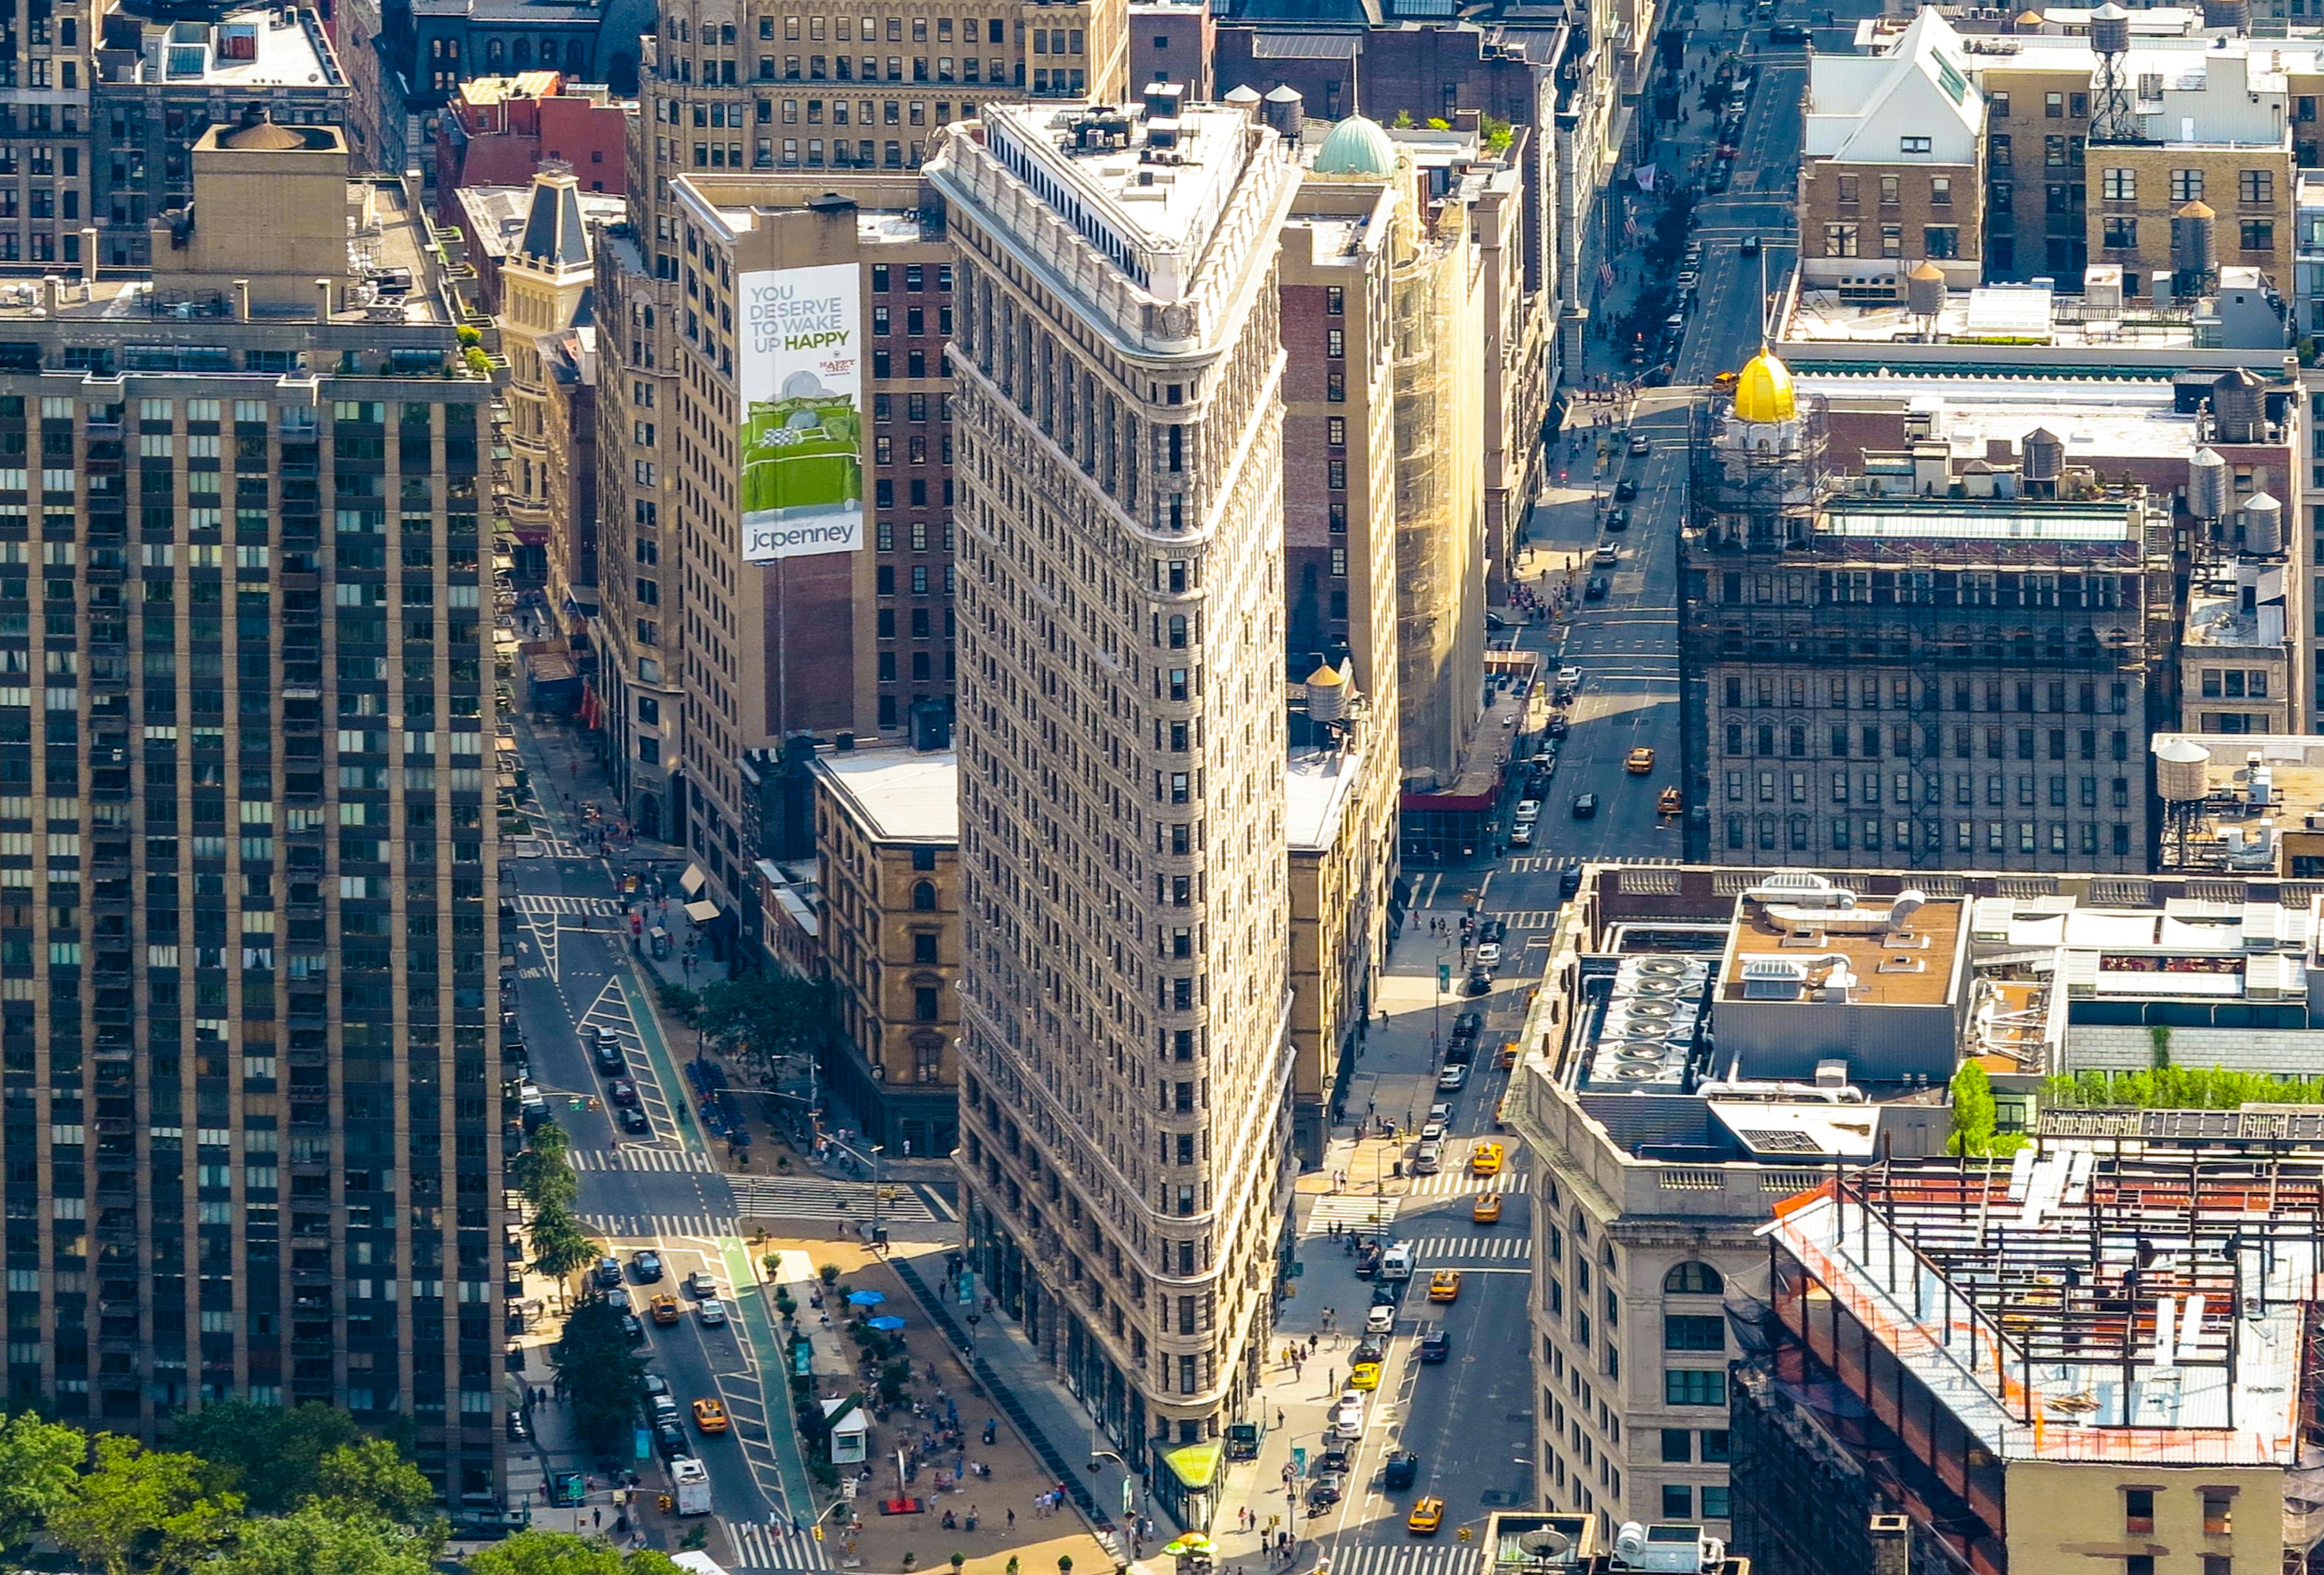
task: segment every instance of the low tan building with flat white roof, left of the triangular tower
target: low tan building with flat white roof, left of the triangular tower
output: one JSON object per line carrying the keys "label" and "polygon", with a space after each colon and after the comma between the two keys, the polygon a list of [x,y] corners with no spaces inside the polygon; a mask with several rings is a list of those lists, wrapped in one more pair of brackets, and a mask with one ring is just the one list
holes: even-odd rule
{"label": "low tan building with flat white roof, left of the triangular tower", "polygon": [[960,1141],[960,762],[890,746],[818,753],[811,771],[841,1041],[825,1087],[867,1143],[941,1159]]}

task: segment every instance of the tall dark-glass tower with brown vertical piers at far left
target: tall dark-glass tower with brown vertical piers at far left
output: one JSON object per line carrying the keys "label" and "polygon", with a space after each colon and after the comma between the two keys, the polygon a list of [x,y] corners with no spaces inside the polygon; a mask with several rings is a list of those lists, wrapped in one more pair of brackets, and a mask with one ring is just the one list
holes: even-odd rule
{"label": "tall dark-glass tower with brown vertical piers at far left", "polygon": [[490,1503],[493,388],[339,130],[211,128],[191,184],[158,269],[0,304],[9,1391],[321,1401]]}

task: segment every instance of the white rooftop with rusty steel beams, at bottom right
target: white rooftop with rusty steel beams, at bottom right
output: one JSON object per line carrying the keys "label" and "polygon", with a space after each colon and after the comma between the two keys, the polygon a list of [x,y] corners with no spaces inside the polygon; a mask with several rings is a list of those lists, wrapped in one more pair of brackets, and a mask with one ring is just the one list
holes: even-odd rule
{"label": "white rooftop with rusty steel beams, at bottom right", "polygon": [[1845,1173],[1762,1234],[2003,1461],[2291,1466],[2319,1210],[2317,1152],[2043,1136]]}

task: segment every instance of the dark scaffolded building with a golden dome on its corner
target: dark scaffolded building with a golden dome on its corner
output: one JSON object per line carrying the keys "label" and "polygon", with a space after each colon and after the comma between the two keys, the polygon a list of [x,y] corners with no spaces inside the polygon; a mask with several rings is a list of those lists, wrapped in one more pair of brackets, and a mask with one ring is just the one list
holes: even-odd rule
{"label": "dark scaffolded building with a golden dome on its corner", "polygon": [[1938,444],[1822,465],[1762,353],[1694,430],[1680,662],[1690,860],[2143,873],[2175,718],[2171,499]]}

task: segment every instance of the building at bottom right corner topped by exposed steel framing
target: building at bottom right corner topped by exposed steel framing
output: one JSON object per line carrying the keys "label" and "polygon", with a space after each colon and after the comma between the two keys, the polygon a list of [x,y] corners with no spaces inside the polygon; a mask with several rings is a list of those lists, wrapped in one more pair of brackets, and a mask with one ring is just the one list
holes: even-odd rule
{"label": "building at bottom right corner topped by exposed steel framing", "polygon": [[1780,1206],[1729,1292],[1762,1570],[2278,1575],[2324,1536],[2324,1113],[2059,1110]]}

